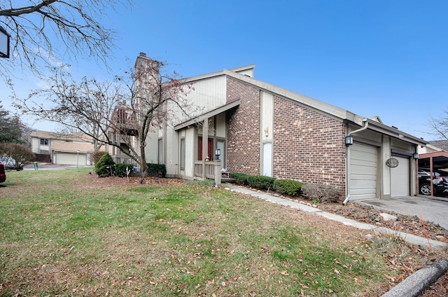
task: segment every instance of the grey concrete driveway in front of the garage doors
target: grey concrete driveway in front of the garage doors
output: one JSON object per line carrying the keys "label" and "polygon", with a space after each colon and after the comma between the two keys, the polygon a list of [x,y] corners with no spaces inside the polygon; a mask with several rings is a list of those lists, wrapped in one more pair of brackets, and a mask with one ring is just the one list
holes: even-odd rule
{"label": "grey concrete driveway in front of the garage doors", "polygon": [[357,202],[407,216],[423,216],[423,221],[437,223],[448,230],[448,199],[405,196],[391,199],[371,199]]}

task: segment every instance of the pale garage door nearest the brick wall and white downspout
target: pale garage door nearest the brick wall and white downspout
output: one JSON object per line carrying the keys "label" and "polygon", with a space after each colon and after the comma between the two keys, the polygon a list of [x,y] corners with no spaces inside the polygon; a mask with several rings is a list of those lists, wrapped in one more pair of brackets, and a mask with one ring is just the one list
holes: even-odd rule
{"label": "pale garage door nearest the brick wall and white downspout", "polygon": [[377,198],[377,148],[353,144],[350,150],[350,199]]}

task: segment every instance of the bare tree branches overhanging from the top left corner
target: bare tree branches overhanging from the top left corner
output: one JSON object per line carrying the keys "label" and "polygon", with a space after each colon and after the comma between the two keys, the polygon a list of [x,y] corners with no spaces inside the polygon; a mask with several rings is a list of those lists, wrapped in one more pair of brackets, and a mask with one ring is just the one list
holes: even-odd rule
{"label": "bare tree branches overhanging from the top left corner", "polygon": [[[94,57],[107,65],[116,32],[101,24],[105,11],[132,0],[0,0],[0,26],[11,36],[10,59],[0,61],[8,80],[20,66],[42,74],[63,57]],[[120,4],[120,5],[119,5]]]}

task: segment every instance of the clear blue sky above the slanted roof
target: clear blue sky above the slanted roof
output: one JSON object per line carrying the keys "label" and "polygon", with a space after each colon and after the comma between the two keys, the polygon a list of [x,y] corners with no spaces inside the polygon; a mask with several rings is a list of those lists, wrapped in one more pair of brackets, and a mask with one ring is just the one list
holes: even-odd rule
{"label": "clear blue sky above the slanted roof", "polygon": [[[141,52],[182,77],[255,64],[260,81],[440,139],[429,120],[448,111],[448,1],[134,0],[116,10],[102,16],[118,34],[111,70],[88,59],[63,61],[73,74],[123,74]],[[22,94],[41,85],[23,78]],[[0,100],[8,109],[1,82]]]}

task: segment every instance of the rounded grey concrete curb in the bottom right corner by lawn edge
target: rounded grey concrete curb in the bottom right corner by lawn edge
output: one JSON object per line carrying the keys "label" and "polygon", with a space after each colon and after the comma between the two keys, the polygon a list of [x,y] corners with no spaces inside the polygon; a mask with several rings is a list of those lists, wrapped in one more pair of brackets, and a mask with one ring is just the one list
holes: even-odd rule
{"label": "rounded grey concrete curb in the bottom right corner by lawn edge", "polygon": [[448,271],[448,260],[441,259],[434,265],[429,265],[417,270],[407,279],[393,287],[381,297],[416,297],[437,281],[439,277]]}

